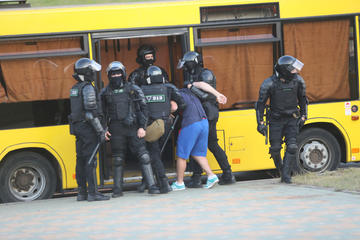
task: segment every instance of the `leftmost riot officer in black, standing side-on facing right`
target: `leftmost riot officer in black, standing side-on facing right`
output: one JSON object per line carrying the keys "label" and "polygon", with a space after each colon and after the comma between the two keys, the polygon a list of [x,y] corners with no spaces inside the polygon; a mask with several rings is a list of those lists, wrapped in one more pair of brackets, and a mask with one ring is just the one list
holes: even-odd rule
{"label": "leftmost riot officer in black, standing side-on facing right", "polygon": [[[78,201],[109,200],[96,189],[96,157],[90,159],[97,143],[105,141],[105,130],[100,123],[102,116],[100,98],[94,88],[94,74],[101,65],[88,58],[81,58],[74,66],[73,77],[78,81],[70,90],[70,131],[76,137],[76,181],[79,186]],[[86,186],[86,183],[88,186]]]}

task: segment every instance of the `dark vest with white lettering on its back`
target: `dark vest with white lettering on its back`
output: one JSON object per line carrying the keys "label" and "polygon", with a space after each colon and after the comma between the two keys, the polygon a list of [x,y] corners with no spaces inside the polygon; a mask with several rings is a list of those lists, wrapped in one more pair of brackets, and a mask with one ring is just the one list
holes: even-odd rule
{"label": "dark vest with white lettering on its back", "polygon": [[146,103],[149,107],[149,117],[167,119],[170,115],[170,91],[164,84],[151,84],[141,86]]}

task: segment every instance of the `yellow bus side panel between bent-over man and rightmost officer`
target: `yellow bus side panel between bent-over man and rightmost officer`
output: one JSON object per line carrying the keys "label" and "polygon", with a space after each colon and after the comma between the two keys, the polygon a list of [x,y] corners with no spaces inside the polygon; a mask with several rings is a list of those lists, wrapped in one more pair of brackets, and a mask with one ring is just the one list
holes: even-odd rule
{"label": "yellow bus side panel between bent-over man and rightmost officer", "polygon": [[[265,137],[256,130],[255,110],[220,112],[217,125],[219,145],[224,148],[234,172],[274,168]],[[221,134],[223,132],[223,134]],[[208,153],[212,169],[220,170],[214,156]]]}

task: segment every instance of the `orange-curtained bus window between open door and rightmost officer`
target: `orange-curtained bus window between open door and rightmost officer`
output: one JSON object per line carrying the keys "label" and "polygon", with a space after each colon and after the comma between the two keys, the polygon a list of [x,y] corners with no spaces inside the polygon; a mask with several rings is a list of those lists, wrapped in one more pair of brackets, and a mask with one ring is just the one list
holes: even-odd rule
{"label": "orange-curtained bus window between open door and rightmost officer", "polygon": [[[198,46],[204,66],[216,76],[217,89],[228,97],[222,109],[251,107],[259,87],[273,73],[275,25],[200,29]],[[241,105],[240,105],[241,104]]]}

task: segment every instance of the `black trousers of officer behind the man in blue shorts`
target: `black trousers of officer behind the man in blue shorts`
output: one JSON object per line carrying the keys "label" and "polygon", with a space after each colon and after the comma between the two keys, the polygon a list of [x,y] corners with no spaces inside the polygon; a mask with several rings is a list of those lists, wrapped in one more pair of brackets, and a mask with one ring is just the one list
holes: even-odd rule
{"label": "black trousers of officer behind the man in blue shorts", "polygon": [[[219,146],[219,143],[218,143],[217,130],[216,130],[217,121],[218,121],[218,118],[216,118],[214,120],[209,120],[208,148],[209,148],[210,152],[216,158],[216,161],[218,162],[221,170],[224,172],[224,171],[231,170],[231,166],[228,162],[225,151]],[[202,173],[203,170],[196,161],[191,159],[191,164],[193,167],[194,174]]]}

